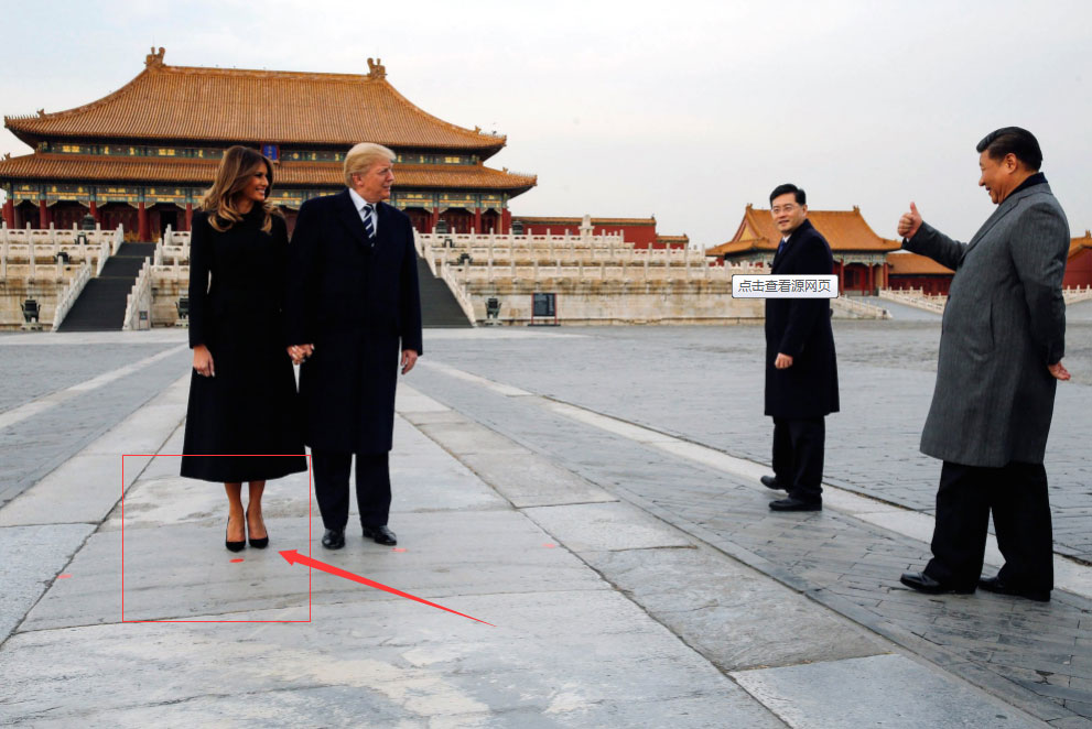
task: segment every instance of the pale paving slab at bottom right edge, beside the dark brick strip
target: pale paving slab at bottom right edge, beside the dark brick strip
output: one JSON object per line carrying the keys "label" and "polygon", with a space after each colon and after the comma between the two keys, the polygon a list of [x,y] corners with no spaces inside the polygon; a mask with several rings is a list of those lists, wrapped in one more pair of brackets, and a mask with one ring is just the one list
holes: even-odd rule
{"label": "pale paving slab at bottom right edge, beside the dark brick strip", "polygon": [[901,655],[742,671],[732,677],[793,729],[1044,726]]}

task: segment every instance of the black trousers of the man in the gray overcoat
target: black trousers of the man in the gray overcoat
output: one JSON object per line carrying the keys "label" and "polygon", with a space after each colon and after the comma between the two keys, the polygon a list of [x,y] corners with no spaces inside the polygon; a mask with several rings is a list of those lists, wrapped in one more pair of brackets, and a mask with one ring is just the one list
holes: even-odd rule
{"label": "black trousers of the man in the gray overcoat", "polygon": [[985,468],[945,460],[937,491],[933,558],[926,574],[949,585],[977,584],[991,511],[1005,557],[998,573],[1002,581],[1025,589],[1053,588],[1053,537],[1042,464],[1014,461]]}

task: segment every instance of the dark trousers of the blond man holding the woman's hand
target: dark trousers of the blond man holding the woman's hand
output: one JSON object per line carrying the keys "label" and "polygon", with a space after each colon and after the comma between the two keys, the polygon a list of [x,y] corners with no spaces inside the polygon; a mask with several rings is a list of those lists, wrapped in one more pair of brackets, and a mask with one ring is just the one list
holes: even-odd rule
{"label": "dark trousers of the blond man holding the woman's hand", "polygon": [[[315,498],[326,529],[343,530],[349,521],[349,467],[353,454],[311,449]],[[381,526],[390,514],[387,454],[356,454],[356,505],[363,526]]]}

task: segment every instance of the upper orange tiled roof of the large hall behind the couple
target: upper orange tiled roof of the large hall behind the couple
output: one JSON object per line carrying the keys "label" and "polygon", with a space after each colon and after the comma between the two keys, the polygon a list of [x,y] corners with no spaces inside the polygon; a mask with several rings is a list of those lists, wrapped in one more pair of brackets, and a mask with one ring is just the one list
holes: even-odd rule
{"label": "upper orange tiled roof of the large hall behind the couple", "polygon": [[484,156],[505,138],[464,129],[419,109],[386,80],[368,75],[167,66],[163,50],[117,91],[85,106],[4,117],[23,141],[46,138],[194,140],[473,151]]}

